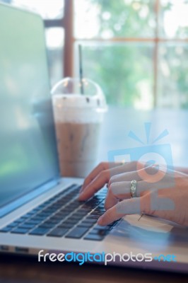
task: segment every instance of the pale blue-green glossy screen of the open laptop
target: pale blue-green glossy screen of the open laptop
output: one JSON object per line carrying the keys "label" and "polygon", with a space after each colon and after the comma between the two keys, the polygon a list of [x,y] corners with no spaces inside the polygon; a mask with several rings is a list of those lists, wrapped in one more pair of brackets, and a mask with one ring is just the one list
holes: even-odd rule
{"label": "pale blue-green glossy screen of the open laptop", "polygon": [[0,4],[0,207],[59,176],[42,19]]}

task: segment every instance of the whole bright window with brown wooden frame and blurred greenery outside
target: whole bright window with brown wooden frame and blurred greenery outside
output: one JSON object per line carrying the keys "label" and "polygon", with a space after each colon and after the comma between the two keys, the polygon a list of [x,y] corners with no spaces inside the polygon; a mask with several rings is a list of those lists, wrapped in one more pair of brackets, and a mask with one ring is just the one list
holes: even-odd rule
{"label": "whole bright window with brown wooden frame and blurred greenery outside", "polygon": [[83,74],[112,105],[188,108],[188,0],[0,0],[40,13],[54,85]]}

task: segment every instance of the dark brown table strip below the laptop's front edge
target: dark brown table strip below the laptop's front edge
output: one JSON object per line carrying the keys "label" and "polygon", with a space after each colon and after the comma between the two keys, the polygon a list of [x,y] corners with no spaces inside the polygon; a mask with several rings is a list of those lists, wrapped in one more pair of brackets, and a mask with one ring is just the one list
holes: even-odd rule
{"label": "dark brown table strip below the laptop's front edge", "polygon": [[188,282],[188,275],[128,268],[39,263],[37,258],[1,255],[1,283],[162,283]]}

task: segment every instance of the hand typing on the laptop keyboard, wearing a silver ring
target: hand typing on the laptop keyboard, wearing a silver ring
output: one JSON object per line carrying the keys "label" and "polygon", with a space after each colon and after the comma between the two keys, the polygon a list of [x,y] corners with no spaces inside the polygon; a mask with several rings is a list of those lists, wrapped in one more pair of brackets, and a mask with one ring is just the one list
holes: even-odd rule
{"label": "hand typing on the laptop keyboard, wearing a silver ring", "polygon": [[[131,180],[136,197],[131,198]],[[107,225],[127,214],[150,214],[188,226],[188,175],[139,162],[100,163],[83,183],[80,200],[88,200],[107,184],[105,214],[98,224]]]}

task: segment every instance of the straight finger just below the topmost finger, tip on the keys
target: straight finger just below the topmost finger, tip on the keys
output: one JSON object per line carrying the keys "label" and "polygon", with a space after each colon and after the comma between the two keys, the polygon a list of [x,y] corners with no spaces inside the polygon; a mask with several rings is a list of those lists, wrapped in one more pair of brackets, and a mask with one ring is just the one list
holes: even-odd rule
{"label": "straight finger just below the topmost finger, tip on the keys", "polygon": [[78,199],[88,200],[110,180],[110,170],[101,171],[94,180],[81,192]]}

